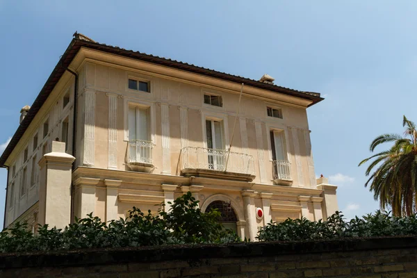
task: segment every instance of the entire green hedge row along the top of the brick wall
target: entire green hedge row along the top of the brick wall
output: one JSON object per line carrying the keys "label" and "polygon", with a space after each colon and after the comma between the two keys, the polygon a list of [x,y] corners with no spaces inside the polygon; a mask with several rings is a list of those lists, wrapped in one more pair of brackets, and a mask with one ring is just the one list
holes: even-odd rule
{"label": "entire green hedge row along the top of the brick wall", "polygon": [[[63,230],[39,226],[35,235],[28,231],[26,223],[17,222],[1,231],[0,252],[241,242],[234,231],[222,229],[216,222],[219,217],[218,211],[203,213],[191,193],[187,193],[174,200],[170,211],[160,210],[157,215],[133,207],[128,218],[106,223],[90,214]],[[288,218],[281,223],[270,222],[259,229],[257,239],[293,241],[405,235],[417,235],[416,215],[397,218],[377,211],[345,221],[343,214],[336,211],[326,221]]]}

